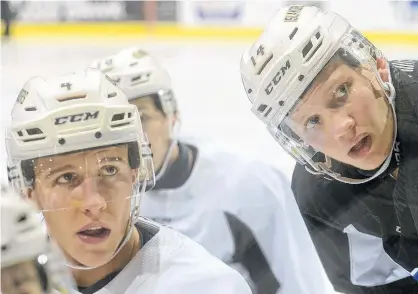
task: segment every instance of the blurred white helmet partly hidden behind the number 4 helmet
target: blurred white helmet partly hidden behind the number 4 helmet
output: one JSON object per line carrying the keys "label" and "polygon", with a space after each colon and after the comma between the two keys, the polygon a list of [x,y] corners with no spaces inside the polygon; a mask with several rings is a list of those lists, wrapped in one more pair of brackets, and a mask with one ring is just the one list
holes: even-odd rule
{"label": "blurred white helmet partly hidden behind the number 4 helmet", "polygon": [[140,48],[129,48],[116,55],[94,61],[90,67],[99,68],[127,95],[129,100],[156,95],[165,115],[177,111],[171,78],[158,60]]}

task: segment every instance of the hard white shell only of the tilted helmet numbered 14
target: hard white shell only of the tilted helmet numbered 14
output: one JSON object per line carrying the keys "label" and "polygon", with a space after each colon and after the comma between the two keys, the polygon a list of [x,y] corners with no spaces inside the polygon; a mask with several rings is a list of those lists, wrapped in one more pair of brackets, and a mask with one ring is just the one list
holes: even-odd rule
{"label": "hard white shell only of the tilted helmet numbered 14", "polygon": [[345,19],[314,6],[280,9],[241,59],[252,111],[278,126],[350,30]]}

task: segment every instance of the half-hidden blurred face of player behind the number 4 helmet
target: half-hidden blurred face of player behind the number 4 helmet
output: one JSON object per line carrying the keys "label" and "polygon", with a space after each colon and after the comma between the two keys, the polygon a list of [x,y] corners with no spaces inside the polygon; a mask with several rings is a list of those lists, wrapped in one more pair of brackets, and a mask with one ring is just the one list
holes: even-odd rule
{"label": "half-hidden blurred face of player behind the number 4 helmet", "polygon": [[155,170],[159,170],[170,146],[170,121],[155,107],[151,97],[143,97],[130,101],[141,112],[144,132],[151,143]]}

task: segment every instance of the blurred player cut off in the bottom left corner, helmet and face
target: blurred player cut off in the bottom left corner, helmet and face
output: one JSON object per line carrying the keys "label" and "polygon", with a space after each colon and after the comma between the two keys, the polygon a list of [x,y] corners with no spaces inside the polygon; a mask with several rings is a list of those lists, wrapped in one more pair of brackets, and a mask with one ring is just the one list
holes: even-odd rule
{"label": "blurred player cut off in the bottom left corner, helmet and face", "polygon": [[34,205],[2,189],[1,293],[70,293],[75,284],[58,248],[45,234]]}

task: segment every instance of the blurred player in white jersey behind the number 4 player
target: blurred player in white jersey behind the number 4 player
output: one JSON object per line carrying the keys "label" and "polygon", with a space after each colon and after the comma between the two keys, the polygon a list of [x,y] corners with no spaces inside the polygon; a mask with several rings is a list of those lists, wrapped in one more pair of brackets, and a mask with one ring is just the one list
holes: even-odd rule
{"label": "blurred player in white jersey behind the number 4 player", "polygon": [[138,107],[150,139],[157,181],[143,196],[141,215],[179,230],[238,269],[253,293],[327,293],[280,171],[202,144],[198,137],[179,137],[170,76],[149,53],[130,48],[92,66]]}

